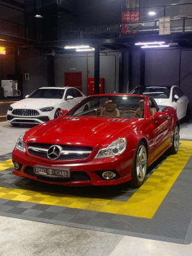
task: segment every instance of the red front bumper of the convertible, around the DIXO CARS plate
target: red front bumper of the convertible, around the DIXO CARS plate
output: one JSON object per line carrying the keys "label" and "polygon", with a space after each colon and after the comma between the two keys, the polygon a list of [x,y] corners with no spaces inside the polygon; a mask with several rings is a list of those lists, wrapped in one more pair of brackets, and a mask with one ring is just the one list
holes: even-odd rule
{"label": "red front bumper of the convertible, around the DIXO CARS plate", "polygon": [[[28,177],[33,180],[63,186],[112,186],[131,180],[132,159],[134,150],[124,152],[120,156],[104,159],[90,159],[90,161],[47,161],[22,153],[14,148],[12,161],[21,164],[20,170],[13,169],[13,174],[19,177]],[[47,166],[50,168],[70,168],[70,179],[52,178],[33,173],[33,166]],[[116,177],[106,180],[102,177],[104,171],[113,170]],[[79,177],[79,178],[78,178]]]}

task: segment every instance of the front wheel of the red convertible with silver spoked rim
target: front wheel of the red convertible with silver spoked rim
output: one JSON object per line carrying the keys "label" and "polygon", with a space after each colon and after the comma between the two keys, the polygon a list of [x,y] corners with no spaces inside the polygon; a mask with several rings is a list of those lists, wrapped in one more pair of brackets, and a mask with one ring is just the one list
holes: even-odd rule
{"label": "front wheel of the red convertible with silver spoked rim", "polygon": [[131,185],[134,188],[140,187],[147,173],[147,147],[143,141],[138,144],[132,163],[132,180]]}

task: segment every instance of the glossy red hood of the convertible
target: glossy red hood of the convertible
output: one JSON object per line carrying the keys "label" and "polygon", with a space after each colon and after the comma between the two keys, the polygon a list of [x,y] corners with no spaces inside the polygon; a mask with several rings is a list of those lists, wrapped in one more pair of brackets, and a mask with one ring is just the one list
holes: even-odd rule
{"label": "glossy red hood of the convertible", "polygon": [[[24,141],[99,147],[109,145],[129,133],[137,119],[65,116],[38,125],[24,136]],[[128,130],[127,130],[128,129]]]}

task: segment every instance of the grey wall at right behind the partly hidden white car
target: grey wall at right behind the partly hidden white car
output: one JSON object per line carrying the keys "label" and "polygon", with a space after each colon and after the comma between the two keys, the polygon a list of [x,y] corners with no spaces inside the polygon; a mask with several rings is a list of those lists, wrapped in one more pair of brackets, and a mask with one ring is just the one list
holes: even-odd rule
{"label": "grey wall at right behind the partly hidden white car", "polygon": [[[132,86],[140,84],[141,51],[133,52]],[[145,85],[179,85],[192,106],[192,49],[148,50],[145,52]],[[191,107],[192,109],[192,107]],[[191,111],[192,116],[192,111]]]}

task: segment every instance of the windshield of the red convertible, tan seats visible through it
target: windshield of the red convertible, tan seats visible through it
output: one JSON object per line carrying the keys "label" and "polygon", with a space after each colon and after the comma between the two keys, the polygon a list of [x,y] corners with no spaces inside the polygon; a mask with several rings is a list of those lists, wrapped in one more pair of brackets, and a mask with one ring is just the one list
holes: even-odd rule
{"label": "windshield of the red convertible, tan seats visible through it", "polygon": [[80,102],[67,115],[143,118],[144,100],[143,97],[127,95],[91,96]]}

